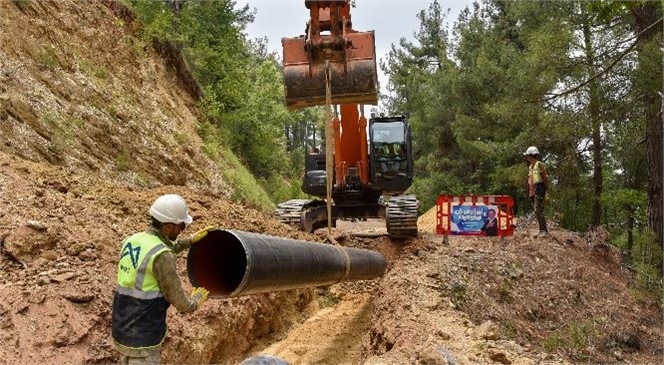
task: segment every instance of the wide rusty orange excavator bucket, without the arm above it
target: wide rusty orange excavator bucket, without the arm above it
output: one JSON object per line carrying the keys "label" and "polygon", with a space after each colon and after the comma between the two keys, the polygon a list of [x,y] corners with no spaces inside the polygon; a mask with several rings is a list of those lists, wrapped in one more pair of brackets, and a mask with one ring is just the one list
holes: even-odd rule
{"label": "wide rusty orange excavator bucket, without the arm above it", "polygon": [[[332,104],[378,104],[373,31],[345,34],[345,52],[321,49],[312,58],[305,37],[283,38],[284,87],[289,109],[325,105],[325,61],[330,62]],[[333,53],[337,53],[336,55]]]}

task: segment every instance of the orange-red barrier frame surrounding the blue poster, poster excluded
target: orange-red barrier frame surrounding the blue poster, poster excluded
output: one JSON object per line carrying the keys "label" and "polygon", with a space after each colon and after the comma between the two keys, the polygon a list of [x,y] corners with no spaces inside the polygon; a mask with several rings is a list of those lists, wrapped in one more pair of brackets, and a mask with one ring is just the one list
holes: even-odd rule
{"label": "orange-red barrier frame surrounding the blue poster, poster excluded", "polygon": [[[436,233],[452,235],[452,206],[454,205],[495,205],[498,206],[498,236],[514,234],[514,200],[509,195],[439,195],[436,199]],[[484,236],[481,233],[464,233],[470,236]]]}

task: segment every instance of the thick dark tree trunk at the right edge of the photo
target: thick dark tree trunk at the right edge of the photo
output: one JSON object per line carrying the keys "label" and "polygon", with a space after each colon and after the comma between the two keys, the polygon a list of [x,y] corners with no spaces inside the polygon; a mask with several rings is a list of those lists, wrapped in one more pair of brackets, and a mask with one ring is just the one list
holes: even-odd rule
{"label": "thick dark tree trunk at the right edge of the photo", "polygon": [[[644,3],[631,9],[636,33],[645,31],[661,16],[661,3]],[[656,240],[664,249],[664,205],[662,199],[662,180],[664,180],[664,120],[662,119],[662,27],[655,26],[643,34],[639,40],[639,74],[642,82],[649,87],[641,87],[639,92],[645,110],[646,144],[648,148],[648,227],[652,229]],[[649,43],[654,42],[649,47]],[[653,51],[654,50],[654,51]],[[651,54],[651,53],[658,54]],[[656,60],[658,67],[653,67]],[[646,69],[646,66],[650,66]],[[653,72],[655,72],[653,74]],[[661,257],[659,258],[661,260]],[[661,270],[661,265],[658,265]]]}

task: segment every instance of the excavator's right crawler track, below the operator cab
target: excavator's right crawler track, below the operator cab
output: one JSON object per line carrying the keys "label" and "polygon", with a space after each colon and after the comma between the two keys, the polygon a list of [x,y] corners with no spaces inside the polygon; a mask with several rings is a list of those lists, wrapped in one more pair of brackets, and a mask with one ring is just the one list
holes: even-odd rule
{"label": "excavator's right crawler track, below the operator cab", "polygon": [[385,207],[385,226],[392,238],[417,237],[417,209],[415,195],[389,198]]}

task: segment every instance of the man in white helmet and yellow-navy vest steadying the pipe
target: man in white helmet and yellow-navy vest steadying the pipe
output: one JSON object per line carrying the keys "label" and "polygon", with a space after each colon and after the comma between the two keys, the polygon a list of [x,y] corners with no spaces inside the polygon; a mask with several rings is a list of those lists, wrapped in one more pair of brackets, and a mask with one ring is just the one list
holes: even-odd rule
{"label": "man in white helmet and yellow-navy vest steadying the pipe", "polygon": [[175,254],[203,239],[213,227],[175,241],[193,219],[185,200],[174,194],[157,198],[150,216],[150,227],[125,239],[120,251],[112,336],[121,364],[158,364],[168,307],[193,312],[209,294],[204,288],[194,288],[191,296],[184,293]]}

